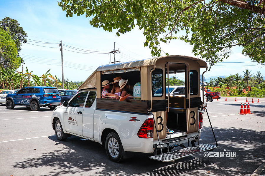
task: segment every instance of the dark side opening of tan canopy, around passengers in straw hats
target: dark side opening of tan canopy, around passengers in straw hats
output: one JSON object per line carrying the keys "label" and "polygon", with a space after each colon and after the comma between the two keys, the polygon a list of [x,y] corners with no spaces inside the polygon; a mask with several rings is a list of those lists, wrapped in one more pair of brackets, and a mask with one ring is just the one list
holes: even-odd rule
{"label": "dark side opening of tan canopy, around passengers in straw hats", "polygon": [[[127,89],[127,92],[131,95],[134,95],[134,87],[135,85],[137,85],[137,97],[141,97],[141,71],[137,68],[135,68],[134,70],[136,71],[128,71],[128,69],[126,70],[126,72],[120,72],[117,73],[117,71],[113,74],[106,74],[106,71],[104,71],[104,74],[103,72],[101,72],[101,83],[104,81],[104,80],[108,80],[109,82],[113,82],[113,78],[116,78],[116,77],[119,77],[121,76],[122,79],[124,80],[127,80],[128,79],[128,82],[129,82],[129,85],[130,85],[130,88]],[[128,72],[127,72],[128,71]],[[108,71],[109,73],[112,72],[112,71]],[[102,85],[101,85],[102,86]],[[113,84],[110,84],[110,89],[109,89],[109,92],[111,92],[113,88]],[[103,87],[101,87],[101,91],[102,91]],[[101,97],[102,98],[102,97]],[[136,99],[136,98],[133,98],[133,99]],[[140,99],[140,98],[137,98],[137,99]]]}

